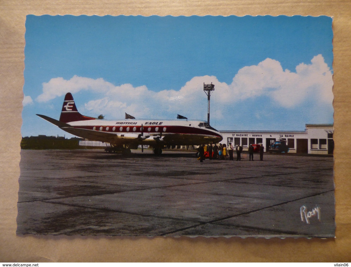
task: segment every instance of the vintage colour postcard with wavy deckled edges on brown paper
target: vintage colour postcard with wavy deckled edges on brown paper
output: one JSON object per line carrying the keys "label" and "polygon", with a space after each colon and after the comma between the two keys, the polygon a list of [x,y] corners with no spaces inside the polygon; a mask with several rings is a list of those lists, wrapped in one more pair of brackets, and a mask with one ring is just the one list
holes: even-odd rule
{"label": "vintage colour postcard with wavy deckled edges on brown paper", "polygon": [[335,237],[332,18],[26,19],[17,234]]}

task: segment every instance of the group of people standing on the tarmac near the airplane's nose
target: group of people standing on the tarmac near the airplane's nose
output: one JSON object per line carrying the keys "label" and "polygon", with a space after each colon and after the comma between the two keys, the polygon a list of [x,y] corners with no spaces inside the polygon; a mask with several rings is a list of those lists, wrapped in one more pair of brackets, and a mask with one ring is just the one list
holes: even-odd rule
{"label": "group of people standing on the tarmac near the airplane's nose", "polygon": [[[243,152],[243,147],[240,145],[235,146],[235,150],[237,153],[237,160],[241,160],[241,152]],[[212,143],[209,145],[200,145],[198,148],[199,152],[199,160],[200,162],[203,162],[205,160],[205,154],[208,152],[208,159],[209,160],[226,160],[227,156],[229,156],[229,160],[234,160],[233,157],[233,152],[234,152],[234,147],[232,143],[229,143],[228,147],[226,144],[221,144],[217,146],[215,143],[214,146],[212,146]],[[252,145],[249,146],[249,160],[253,160],[253,152],[254,148]],[[259,147],[259,154],[260,154],[260,160],[263,160],[263,153],[264,153],[264,146],[261,145]]]}

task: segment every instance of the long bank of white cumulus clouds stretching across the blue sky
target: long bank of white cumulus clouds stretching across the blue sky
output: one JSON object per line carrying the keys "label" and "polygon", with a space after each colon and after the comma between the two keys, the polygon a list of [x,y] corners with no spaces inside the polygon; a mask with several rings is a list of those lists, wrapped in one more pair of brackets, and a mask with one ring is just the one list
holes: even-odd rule
{"label": "long bank of white cumulus clouds stretching across the blue sky", "polygon": [[[216,102],[211,101],[213,118],[221,119],[230,107],[239,101],[266,96],[275,105],[294,108],[305,100],[313,99],[316,106],[332,104],[332,71],[322,55],[314,56],[309,64],[301,63],[295,72],[283,70],[280,62],[266,58],[257,65],[241,68],[231,84],[221,82],[215,76],[193,77],[177,90],[154,92],[145,85],[132,84],[115,86],[104,79],[73,76],[69,80],[53,78],[43,83],[43,92],[36,99],[48,101],[67,92],[81,90],[99,92],[102,97],[85,103],[86,111],[105,114],[111,118],[124,118],[124,112],[136,118],[173,118],[182,114],[188,118],[199,118],[207,114],[207,98],[203,84],[215,84]],[[212,100],[213,98],[211,98]],[[217,104],[216,104],[217,103]]]}

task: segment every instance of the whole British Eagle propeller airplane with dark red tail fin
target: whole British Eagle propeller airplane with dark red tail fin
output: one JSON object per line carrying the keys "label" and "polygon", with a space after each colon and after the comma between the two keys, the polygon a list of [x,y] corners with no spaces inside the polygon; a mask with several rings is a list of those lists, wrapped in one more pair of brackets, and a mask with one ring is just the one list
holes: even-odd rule
{"label": "whole British Eagle propeller airplane with dark red tail fin", "polygon": [[110,143],[116,150],[130,153],[138,145],[149,145],[155,154],[164,146],[188,146],[218,143],[222,135],[204,121],[179,120],[99,120],[80,114],[71,93],[65,96],[60,120],[45,115],[39,117],[62,130],[91,141]]}

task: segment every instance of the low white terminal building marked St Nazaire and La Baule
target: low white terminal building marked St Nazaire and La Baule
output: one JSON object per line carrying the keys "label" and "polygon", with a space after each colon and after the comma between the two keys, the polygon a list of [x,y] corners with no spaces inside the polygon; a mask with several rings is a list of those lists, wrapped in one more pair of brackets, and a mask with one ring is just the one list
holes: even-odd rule
{"label": "low white terminal building marked St Nazaire and La Baule", "polygon": [[285,140],[288,153],[333,154],[333,124],[306,124],[305,131],[220,131],[223,143],[241,145],[263,144],[265,152],[277,140]]}

